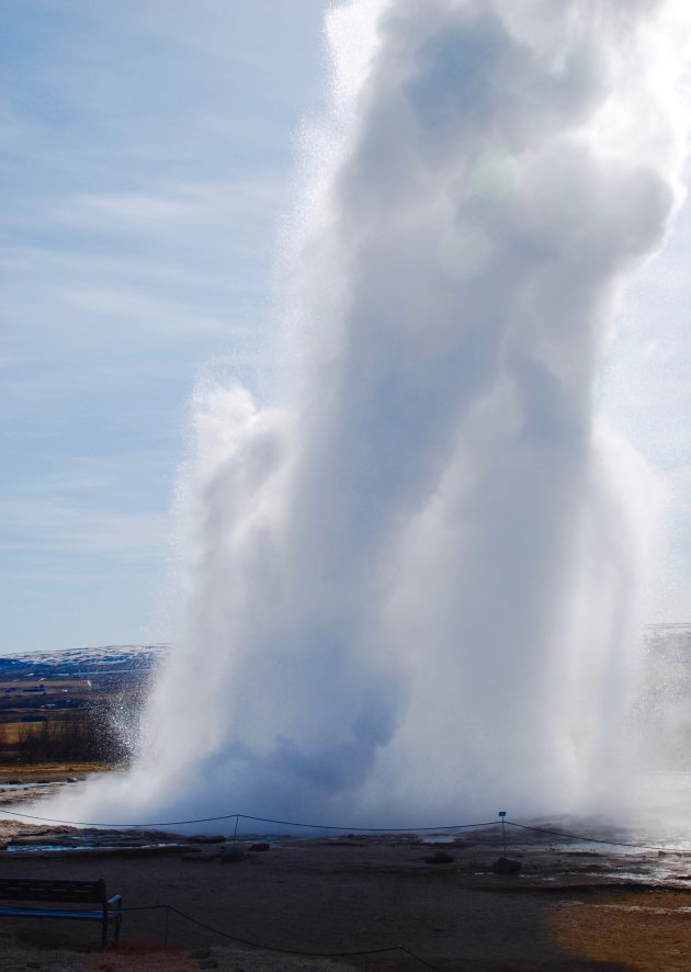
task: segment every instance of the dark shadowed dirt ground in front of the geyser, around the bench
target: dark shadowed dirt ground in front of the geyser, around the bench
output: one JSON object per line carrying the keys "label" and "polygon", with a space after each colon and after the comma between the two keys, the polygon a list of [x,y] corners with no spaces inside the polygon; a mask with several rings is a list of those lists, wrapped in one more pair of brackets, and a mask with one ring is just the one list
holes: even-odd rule
{"label": "dark shadowed dirt ground in front of the geyser, around the bench", "polygon": [[[60,839],[9,826],[30,843]],[[0,852],[0,877],[104,878],[125,907],[121,942],[104,953],[95,924],[4,919],[2,972],[691,968],[687,855],[514,847],[521,871],[500,877],[491,864],[502,849],[482,839],[282,837],[268,849],[250,840],[148,851],[127,840]]]}

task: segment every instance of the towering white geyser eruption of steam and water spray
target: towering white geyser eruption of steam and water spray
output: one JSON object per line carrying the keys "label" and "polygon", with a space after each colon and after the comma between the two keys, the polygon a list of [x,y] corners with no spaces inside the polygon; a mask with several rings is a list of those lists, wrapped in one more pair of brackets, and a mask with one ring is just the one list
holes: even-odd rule
{"label": "towering white geyser eruption of steam and water spray", "polygon": [[616,785],[650,497],[593,398],[680,197],[673,9],[354,0],[328,36],[283,378],[197,393],[179,646],[79,820],[421,826]]}

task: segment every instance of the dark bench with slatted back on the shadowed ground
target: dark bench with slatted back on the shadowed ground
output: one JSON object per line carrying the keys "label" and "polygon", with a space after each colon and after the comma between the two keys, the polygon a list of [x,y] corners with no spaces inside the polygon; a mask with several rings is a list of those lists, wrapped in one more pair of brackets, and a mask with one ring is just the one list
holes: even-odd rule
{"label": "dark bench with slatted back on the shadowed ground", "polygon": [[[27,902],[26,905],[4,902]],[[29,902],[32,902],[30,905]],[[71,905],[71,907],[56,907]],[[97,905],[98,907],[89,907]],[[0,878],[0,918],[71,918],[101,923],[101,948],[106,948],[109,926],[112,941],[120,936],[123,900],[105,896],[105,881]]]}

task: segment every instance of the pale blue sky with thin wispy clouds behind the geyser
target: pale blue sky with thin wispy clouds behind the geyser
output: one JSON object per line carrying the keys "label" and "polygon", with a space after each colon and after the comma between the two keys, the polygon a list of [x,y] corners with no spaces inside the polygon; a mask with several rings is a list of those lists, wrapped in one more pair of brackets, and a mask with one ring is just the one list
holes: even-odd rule
{"label": "pale blue sky with thin wispy clouds behind the geyser", "polygon": [[[0,653],[171,636],[156,606],[188,402],[205,366],[261,392],[326,5],[0,4]],[[684,621],[690,249],[684,210],[602,391],[672,496],[653,613]]]}

